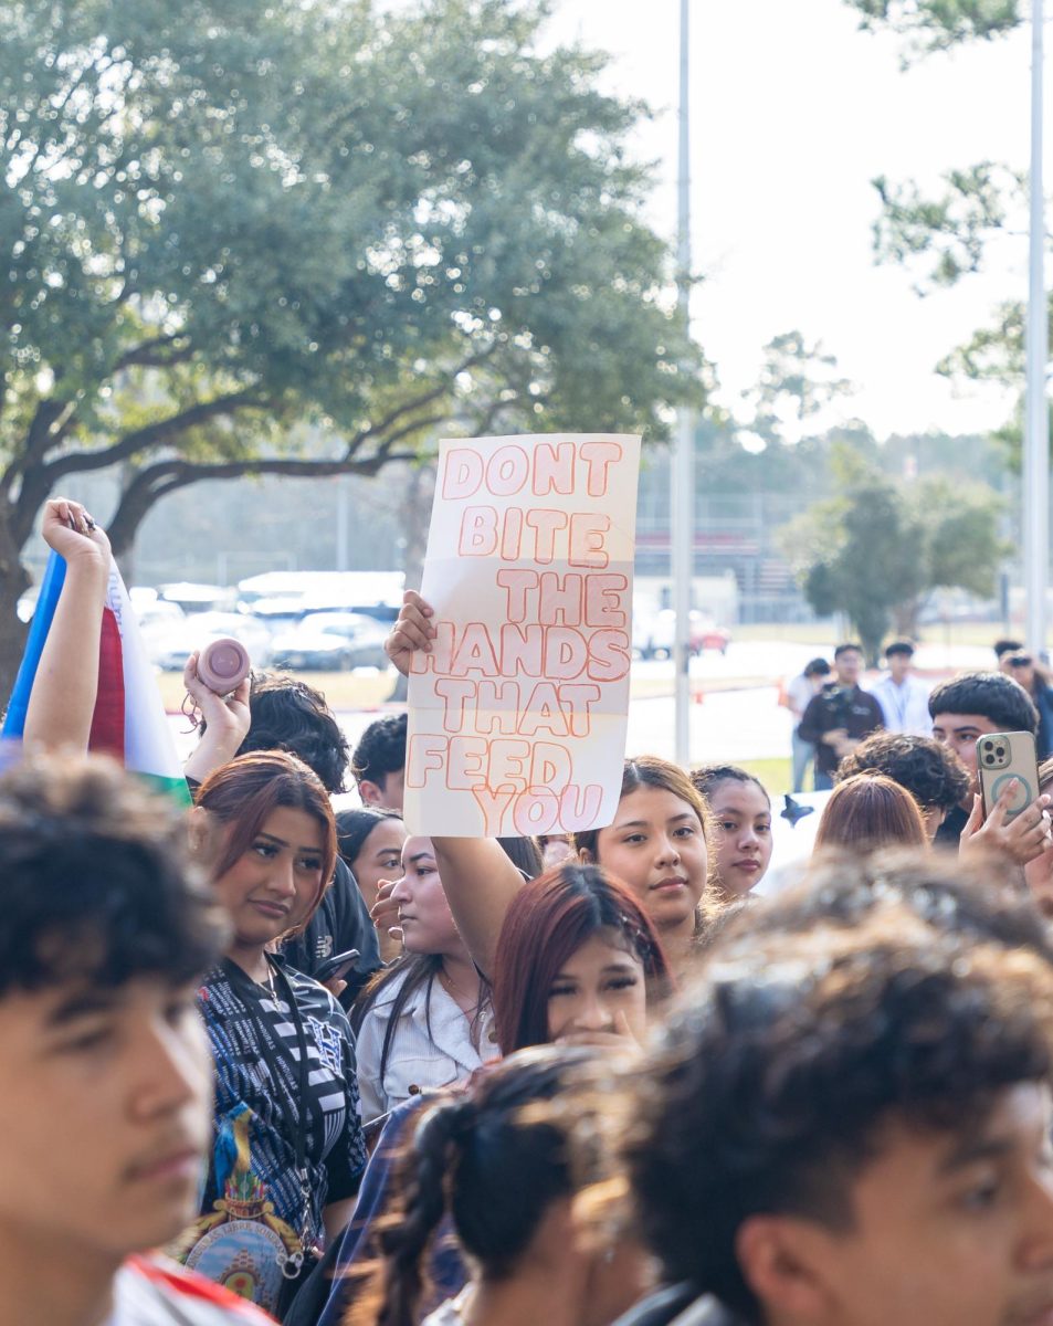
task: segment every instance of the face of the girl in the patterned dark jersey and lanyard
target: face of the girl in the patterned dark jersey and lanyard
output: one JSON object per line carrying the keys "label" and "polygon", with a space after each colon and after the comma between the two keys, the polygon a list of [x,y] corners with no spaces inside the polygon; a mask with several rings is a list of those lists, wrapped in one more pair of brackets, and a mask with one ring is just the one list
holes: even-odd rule
{"label": "face of the girl in the patterned dark jersey and lanyard", "polygon": [[302,926],[322,890],[324,855],[314,815],[290,806],[271,812],[248,851],[215,884],[239,944],[263,948]]}

